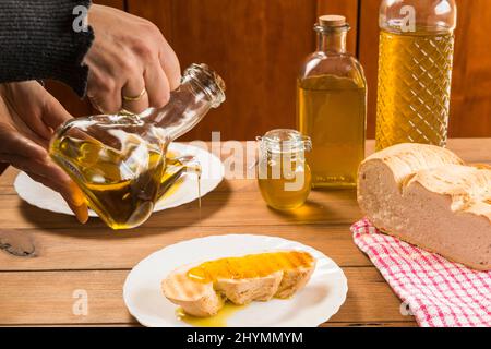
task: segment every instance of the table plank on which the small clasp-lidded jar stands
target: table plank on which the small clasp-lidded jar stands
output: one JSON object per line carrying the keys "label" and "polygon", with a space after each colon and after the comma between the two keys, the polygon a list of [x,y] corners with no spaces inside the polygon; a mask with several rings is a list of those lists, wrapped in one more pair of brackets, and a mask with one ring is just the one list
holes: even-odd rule
{"label": "table plank on which the small clasp-lidded jar stands", "polygon": [[[227,185],[224,183],[221,185]],[[231,186],[231,185],[230,185]],[[255,183],[250,188],[255,189]],[[176,209],[153,215],[145,224],[147,228],[228,227],[241,226],[288,226],[291,224],[350,224],[360,218],[355,191],[334,193],[313,193],[309,203],[295,213],[278,213],[262,203],[260,193],[254,191],[224,192],[217,191],[203,198],[201,210],[197,203],[183,205]],[[261,205],[258,205],[261,203]],[[3,228],[72,228],[74,219],[70,216],[45,213],[31,206],[15,195],[1,195]],[[244,209],[247,207],[248,209]],[[200,217],[201,215],[201,217]],[[230,220],[233,217],[233,221]],[[251,219],[256,217],[256,219]],[[98,219],[80,229],[89,231],[104,228]],[[134,230],[137,232],[139,230]]]}

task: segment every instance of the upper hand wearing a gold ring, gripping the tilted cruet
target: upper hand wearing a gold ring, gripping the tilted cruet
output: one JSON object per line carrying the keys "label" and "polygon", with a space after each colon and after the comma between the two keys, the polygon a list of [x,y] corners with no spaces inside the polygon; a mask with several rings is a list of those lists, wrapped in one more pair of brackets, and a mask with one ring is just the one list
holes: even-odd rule
{"label": "upper hand wearing a gold ring, gripping the tilted cruet", "polygon": [[[92,5],[95,41],[85,57],[87,96],[105,113],[164,107],[180,84],[178,58],[151,22],[104,5]],[[127,98],[124,98],[124,97]],[[128,100],[134,99],[134,100]]]}

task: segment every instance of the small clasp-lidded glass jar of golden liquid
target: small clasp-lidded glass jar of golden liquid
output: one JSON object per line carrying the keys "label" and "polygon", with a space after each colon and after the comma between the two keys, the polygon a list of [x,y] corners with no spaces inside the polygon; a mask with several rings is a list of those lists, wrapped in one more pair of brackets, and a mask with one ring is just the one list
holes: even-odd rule
{"label": "small clasp-lidded glass jar of golden liquid", "polygon": [[306,161],[306,153],[312,149],[310,137],[295,130],[273,130],[258,141],[258,183],[267,205],[278,210],[302,206],[312,184]]}

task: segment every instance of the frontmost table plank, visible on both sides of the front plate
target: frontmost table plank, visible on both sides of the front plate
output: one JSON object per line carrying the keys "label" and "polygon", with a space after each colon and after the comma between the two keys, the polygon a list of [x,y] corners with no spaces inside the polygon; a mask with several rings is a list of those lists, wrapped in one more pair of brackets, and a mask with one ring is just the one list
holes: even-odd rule
{"label": "frontmost table plank, visible on both sides of the front plate", "polygon": [[[409,322],[400,301],[372,267],[345,268],[346,304],[334,322]],[[128,270],[0,273],[0,324],[134,324],[122,300]],[[74,292],[87,294],[87,315],[74,315]]]}

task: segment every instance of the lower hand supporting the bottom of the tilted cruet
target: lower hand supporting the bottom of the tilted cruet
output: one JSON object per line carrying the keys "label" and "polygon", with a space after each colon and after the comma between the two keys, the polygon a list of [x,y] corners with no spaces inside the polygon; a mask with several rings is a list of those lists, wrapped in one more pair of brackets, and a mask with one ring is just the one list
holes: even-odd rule
{"label": "lower hand supporting the bottom of the tilted cruet", "polygon": [[59,192],[80,222],[88,210],[79,186],[49,157],[49,140],[72,117],[37,82],[0,84],[0,163]]}

